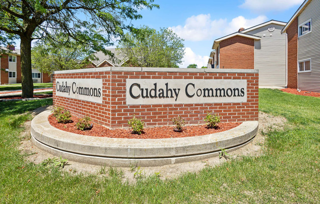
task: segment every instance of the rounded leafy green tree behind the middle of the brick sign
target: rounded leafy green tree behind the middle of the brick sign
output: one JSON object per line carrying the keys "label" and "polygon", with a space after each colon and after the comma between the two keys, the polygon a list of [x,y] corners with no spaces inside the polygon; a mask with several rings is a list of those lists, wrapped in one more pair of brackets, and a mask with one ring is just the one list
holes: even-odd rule
{"label": "rounded leafy green tree behind the middle of the brick sign", "polygon": [[185,54],[183,39],[170,29],[141,27],[138,34],[126,33],[118,51],[129,60],[125,66],[178,67]]}

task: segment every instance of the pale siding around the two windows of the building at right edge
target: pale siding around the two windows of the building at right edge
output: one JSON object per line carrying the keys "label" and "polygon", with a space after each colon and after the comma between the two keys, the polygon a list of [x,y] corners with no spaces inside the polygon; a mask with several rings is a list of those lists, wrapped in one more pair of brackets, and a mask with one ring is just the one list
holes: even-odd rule
{"label": "pale siding around the two windows of the building at right edge", "polygon": [[320,0],[311,0],[298,16],[298,25],[310,19],[311,32],[298,37],[298,61],[311,58],[311,72],[298,73],[298,88],[320,92]]}

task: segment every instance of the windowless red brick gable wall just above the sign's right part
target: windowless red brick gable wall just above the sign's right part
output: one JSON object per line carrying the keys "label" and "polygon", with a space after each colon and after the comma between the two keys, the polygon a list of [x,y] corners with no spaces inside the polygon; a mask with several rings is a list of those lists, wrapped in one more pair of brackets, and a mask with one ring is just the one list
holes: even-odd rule
{"label": "windowless red brick gable wall just above the sign's right part", "polygon": [[235,36],[220,42],[220,69],[254,69],[254,39]]}

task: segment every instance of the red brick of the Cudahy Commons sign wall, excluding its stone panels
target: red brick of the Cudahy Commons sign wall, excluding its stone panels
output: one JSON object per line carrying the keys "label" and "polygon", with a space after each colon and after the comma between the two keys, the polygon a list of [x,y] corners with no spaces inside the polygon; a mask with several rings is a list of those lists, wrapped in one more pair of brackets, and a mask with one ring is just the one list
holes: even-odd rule
{"label": "red brick of the Cudahy Commons sign wall, excluding its stone panels", "polygon": [[[103,78],[103,104],[55,95],[56,78]],[[126,104],[126,79],[247,79],[247,102],[195,104]],[[258,73],[195,73],[107,71],[54,74],[53,104],[64,106],[72,114],[89,115],[94,122],[109,128],[128,127],[135,115],[146,126],[172,125],[171,119],[181,115],[186,124],[203,124],[207,112],[219,114],[221,122],[258,121]]]}

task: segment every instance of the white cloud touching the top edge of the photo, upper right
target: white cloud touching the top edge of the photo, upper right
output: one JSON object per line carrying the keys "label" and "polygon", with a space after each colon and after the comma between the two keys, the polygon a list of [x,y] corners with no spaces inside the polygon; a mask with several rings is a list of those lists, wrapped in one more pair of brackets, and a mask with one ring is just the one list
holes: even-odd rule
{"label": "white cloud touching the top edge of the photo, upper right", "polygon": [[253,12],[284,11],[292,6],[302,4],[304,0],[245,0],[240,8],[247,8]]}

